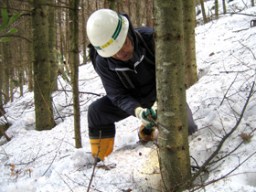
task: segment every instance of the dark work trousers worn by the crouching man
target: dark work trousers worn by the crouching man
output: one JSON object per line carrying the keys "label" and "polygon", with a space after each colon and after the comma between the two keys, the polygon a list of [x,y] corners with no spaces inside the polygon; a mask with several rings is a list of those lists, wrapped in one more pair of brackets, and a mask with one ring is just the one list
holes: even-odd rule
{"label": "dark work trousers worn by the crouching man", "polygon": [[[115,122],[119,122],[130,114],[124,112],[117,106],[112,104],[107,96],[94,101],[89,106],[88,110],[88,124],[89,124],[89,137],[90,139],[99,139],[100,131],[101,138],[112,138],[115,135]],[[188,133],[197,131],[197,125],[194,123],[192,112],[187,105],[187,123]]]}

